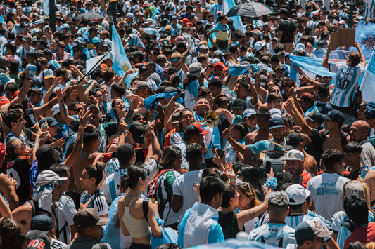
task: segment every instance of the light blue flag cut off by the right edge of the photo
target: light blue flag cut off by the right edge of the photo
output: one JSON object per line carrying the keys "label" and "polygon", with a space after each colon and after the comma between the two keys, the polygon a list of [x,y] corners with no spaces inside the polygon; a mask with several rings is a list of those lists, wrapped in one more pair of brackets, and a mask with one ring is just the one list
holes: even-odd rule
{"label": "light blue flag cut off by the right edge of the photo", "polygon": [[369,63],[367,64],[366,70],[362,78],[360,91],[362,91],[362,97],[364,101],[375,101],[375,55],[372,52]]}

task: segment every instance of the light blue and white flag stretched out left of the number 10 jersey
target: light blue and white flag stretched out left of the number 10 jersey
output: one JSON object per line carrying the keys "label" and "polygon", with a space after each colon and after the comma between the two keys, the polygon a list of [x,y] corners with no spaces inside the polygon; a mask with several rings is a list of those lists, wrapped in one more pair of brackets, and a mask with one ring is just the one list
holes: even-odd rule
{"label": "light blue and white flag stretched out left of the number 10 jersey", "polygon": [[[323,62],[322,59],[311,58],[311,57],[306,57],[306,56],[290,56],[290,59],[291,59],[290,76],[292,79],[294,79],[294,81],[297,83],[298,86],[300,86],[300,81],[298,80],[298,77],[300,76],[300,74],[298,74],[297,69],[295,69],[295,66],[300,67],[300,69],[302,69],[302,71],[310,79],[314,79],[315,75],[317,74],[320,76],[336,76],[336,73],[329,72],[329,69],[326,69],[325,67],[322,66],[322,62]],[[330,63],[336,63],[336,62],[330,62]]]}

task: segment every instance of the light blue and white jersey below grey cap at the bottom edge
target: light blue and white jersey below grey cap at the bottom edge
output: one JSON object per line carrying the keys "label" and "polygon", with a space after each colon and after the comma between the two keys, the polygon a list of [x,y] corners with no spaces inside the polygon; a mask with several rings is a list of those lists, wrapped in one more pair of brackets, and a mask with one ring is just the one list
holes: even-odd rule
{"label": "light blue and white jersey below grey cap at the bottom edge", "polygon": [[296,244],[294,229],[287,224],[267,223],[250,232],[250,241],[258,241],[279,248],[288,244]]}

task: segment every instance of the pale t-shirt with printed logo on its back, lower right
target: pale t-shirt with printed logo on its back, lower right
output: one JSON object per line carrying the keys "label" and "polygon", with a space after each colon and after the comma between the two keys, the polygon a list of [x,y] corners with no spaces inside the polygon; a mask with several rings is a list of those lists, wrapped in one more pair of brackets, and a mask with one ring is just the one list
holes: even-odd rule
{"label": "pale t-shirt with printed logo on its back, lower right", "polygon": [[334,213],[343,210],[343,184],[349,179],[336,173],[317,175],[307,182],[311,192],[311,201],[315,210],[326,220],[331,220]]}

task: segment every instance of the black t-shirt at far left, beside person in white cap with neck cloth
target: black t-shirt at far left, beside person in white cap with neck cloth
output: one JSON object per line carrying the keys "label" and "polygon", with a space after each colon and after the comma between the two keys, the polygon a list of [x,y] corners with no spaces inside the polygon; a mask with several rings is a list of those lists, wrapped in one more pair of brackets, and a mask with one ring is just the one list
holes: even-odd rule
{"label": "black t-shirt at far left, beside person in white cap with neck cloth", "polygon": [[19,206],[27,201],[31,194],[32,188],[29,180],[29,156],[20,156],[8,164],[8,177],[14,177],[17,180],[17,189],[15,192],[20,198]]}

